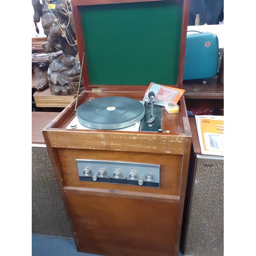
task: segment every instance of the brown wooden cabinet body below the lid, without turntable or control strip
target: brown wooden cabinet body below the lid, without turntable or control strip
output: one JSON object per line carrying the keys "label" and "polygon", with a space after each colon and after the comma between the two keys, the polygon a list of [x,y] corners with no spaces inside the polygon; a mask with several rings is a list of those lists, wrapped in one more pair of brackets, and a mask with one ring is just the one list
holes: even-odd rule
{"label": "brown wooden cabinet body below the lid, without turntable or control strip", "polygon": [[[75,102],[42,132],[78,251],[178,255],[191,145],[184,98],[179,113],[163,109],[170,133],[66,130],[74,108]],[[79,181],[76,159],[158,164],[160,187]]]}

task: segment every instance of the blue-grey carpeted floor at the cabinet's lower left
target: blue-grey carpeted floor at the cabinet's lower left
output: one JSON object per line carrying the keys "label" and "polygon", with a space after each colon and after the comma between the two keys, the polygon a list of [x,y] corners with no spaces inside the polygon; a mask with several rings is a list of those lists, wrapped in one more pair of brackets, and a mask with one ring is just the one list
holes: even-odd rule
{"label": "blue-grey carpeted floor at the cabinet's lower left", "polygon": [[[32,256],[100,256],[76,250],[71,238],[32,235]],[[179,256],[182,256],[180,253]]]}

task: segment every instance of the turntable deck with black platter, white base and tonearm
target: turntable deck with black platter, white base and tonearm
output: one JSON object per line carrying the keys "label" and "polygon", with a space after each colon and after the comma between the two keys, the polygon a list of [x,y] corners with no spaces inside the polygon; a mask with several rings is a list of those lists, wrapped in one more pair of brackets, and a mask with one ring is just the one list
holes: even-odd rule
{"label": "turntable deck with black platter, white base and tonearm", "polygon": [[93,99],[79,106],[66,129],[162,132],[162,108],[153,103],[118,96]]}

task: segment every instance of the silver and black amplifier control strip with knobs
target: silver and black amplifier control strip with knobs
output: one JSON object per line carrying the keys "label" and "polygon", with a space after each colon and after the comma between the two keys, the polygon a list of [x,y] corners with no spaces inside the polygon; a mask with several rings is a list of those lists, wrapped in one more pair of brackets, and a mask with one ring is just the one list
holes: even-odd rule
{"label": "silver and black amplifier control strip with knobs", "polygon": [[160,187],[160,165],[76,159],[80,181]]}

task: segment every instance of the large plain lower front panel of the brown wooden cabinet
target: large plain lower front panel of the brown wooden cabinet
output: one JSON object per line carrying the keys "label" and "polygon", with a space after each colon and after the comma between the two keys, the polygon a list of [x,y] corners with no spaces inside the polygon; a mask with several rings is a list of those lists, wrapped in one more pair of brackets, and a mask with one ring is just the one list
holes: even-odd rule
{"label": "large plain lower front panel of the brown wooden cabinet", "polygon": [[86,197],[69,191],[66,197],[72,209],[78,250],[112,256],[174,253],[178,204]]}

